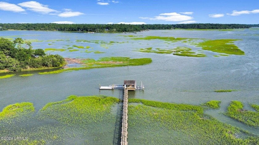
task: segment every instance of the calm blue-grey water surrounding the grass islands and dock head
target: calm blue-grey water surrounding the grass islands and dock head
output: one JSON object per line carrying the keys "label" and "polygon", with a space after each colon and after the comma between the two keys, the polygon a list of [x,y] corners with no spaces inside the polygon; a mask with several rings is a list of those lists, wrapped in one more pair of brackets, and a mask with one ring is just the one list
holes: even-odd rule
{"label": "calm blue-grey water surrounding the grass islands and dock head", "polygon": [[[191,31],[191,30],[151,30],[142,34],[124,33],[64,33],[52,31],[0,31],[0,37],[23,39],[38,39],[42,42],[32,42],[34,49],[67,49],[72,45],[90,46],[88,51],[101,51],[105,53],[85,53],[85,49],[74,52],[47,52],[60,54],[71,58],[100,57],[150,57],[153,63],[143,66],[130,66],[118,68],[102,68],[80,70],[74,72],[0,79],[0,110],[9,104],[17,102],[32,102],[39,110],[46,103],[64,100],[69,95],[89,96],[107,95],[120,98],[119,90],[99,90],[99,84],[122,84],[123,80],[141,81],[145,91],[129,92],[129,98],[141,98],[170,103],[184,103],[199,105],[209,100],[222,101],[218,110],[208,110],[205,113],[218,120],[232,124],[259,135],[259,130],[248,127],[243,123],[222,115],[232,100],[241,101],[245,109],[253,110],[249,103],[259,104],[259,30],[245,29],[235,31]],[[234,41],[244,56],[231,55],[229,57],[213,57],[218,53],[204,51],[208,57],[181,57],[173,54],[141,53],[132,51],[138,48],[169,49],[177,46],[186,46],[198,52],[201,48],[191,43],[165,43],[162,40],[132,40],[128,35],[185,37],[206,39],[242,39]],[[51,41],[50,41],[51,40]],[[52,41],[53,40],[53,41]],[[63,41],[54,41],[63,40]],[[78,42],[76,40],[98,40],[102,43]],[[108,44],[109,41],[123,42]],[[199,41],[198,41],[199,42]],[[77,48],[75,48],[77,49]],[[31,73],[31,72],[30,72]],[[214,90],[236,89],[241,91],[216,93]]]}

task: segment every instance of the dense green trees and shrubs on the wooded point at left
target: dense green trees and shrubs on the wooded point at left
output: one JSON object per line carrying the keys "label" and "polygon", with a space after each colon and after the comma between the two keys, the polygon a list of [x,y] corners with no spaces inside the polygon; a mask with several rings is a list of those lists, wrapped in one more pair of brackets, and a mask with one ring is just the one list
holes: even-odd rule
{"label": "dense green trees and shrubs on the wooded point at left", "polygon": [[32,49],[31,42],[21,38],[0,38],[0,69],[20,71],[28,68],[58,67],[65,62],[58,54],[46,55],[43,49]]}

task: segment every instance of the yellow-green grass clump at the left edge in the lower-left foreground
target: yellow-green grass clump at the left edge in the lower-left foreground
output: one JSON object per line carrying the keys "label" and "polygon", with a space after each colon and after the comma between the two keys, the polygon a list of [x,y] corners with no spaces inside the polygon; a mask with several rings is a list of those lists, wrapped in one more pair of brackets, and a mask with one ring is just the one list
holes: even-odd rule
{"label": "yellow-green grass clump at the left edge in the lower-left foreground", "polygon": [[16,103],[6,106],[2,112],[0,112],[0,120],[15,118],[20,115],[26,115],[30,112],[34,112],[33,104],[30,102]]}

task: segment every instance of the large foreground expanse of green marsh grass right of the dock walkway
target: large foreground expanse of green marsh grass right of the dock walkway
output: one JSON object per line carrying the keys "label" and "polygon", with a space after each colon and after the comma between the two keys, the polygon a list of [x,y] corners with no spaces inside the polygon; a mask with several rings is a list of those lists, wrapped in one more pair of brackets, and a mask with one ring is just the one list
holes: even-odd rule
{"label": "large foreground expanse of green marsh grass right of the dock walkway", "polygon": [[[128,106],[129,144],[258,144],[259,137],[203,114],[201,106],[142,99]],[[148,103],[146,103],[148,102]],[[196,111],[198,110],[198,111]]]}

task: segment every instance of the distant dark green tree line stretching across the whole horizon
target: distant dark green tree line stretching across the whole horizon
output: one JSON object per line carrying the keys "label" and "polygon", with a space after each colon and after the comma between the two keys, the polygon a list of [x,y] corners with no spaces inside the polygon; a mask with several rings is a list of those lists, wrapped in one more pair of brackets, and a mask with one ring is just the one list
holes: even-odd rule
{"label": "distant dark green tree line stretching across the whole horizon", "polygon": [[259,27],[259,24],[3,24],[0,30],[56,30],[56,31],[82,31],[82,32],[133,32],[147,29],[239,29]]}

